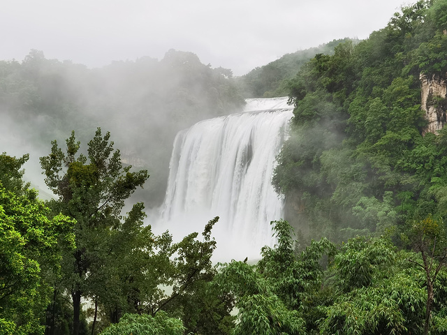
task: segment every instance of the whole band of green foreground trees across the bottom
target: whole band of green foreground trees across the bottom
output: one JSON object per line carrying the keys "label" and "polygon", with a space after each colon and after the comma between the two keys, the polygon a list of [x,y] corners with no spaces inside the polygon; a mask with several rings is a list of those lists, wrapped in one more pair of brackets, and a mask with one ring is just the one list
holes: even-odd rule
{"label": "whole band of green foreground trees across the bottom", "polygon": [[[405,248],[383,236],[303,248],[276,221],[277,244],[257,265],[213,267],[219,218],[202,241],[197,233],[177,244],[168,232],[155,236],[142,226],[142,204],[117,216],[147,172],[123,168],[100,130],[88,157],[77,155],[74,135],[66,144],[64,153],[54,142],[41,159],[59,195],[50,208],[22,182],[27,157],[0,156],[0,334],[447,332],[441,221],[413,222],[401,235]],[[93,307],[82,311],[81,297]]]}

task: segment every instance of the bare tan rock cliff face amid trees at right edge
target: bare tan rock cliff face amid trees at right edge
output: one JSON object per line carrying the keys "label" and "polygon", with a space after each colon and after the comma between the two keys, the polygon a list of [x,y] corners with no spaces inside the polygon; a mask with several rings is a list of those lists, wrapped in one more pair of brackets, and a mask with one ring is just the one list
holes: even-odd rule
{"label": "bare tan rock cliff face amid trees at right edge", "polygon": [[439,75],[420,75],[421,87],[421,107],[425,111],[425,118],[428,121],[427,128],[423,131],[434,133],[440,131],[446,124],[447,110],[447,80]]}

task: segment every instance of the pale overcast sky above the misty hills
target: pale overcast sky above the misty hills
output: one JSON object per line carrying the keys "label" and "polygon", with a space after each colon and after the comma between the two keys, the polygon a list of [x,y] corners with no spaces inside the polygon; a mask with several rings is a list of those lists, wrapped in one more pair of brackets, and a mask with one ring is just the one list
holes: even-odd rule
{"label": "pale overcast sky above the misty hills", "polygon": [[[414,1],[413,1],[414,2]],[[0,59],[31,49],[89,67],[166,51],[243,75],[283,54],[386,26],[402,0],[3,0]]]}

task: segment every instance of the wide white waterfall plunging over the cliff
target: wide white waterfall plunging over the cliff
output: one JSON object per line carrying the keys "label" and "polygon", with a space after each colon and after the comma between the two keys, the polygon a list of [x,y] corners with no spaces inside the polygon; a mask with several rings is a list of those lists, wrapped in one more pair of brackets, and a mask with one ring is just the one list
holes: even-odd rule
{"label": "wide white waterfall plunging over the cliff", "polygon": [[[271,184],[293,107],[287,98],[247,99],[244,112],[200,121],[177,134],[161,220],[175,234],[213,228],[215,258],[258,258],[283,212]],[[166,227],[166,225],[163,225]]]}

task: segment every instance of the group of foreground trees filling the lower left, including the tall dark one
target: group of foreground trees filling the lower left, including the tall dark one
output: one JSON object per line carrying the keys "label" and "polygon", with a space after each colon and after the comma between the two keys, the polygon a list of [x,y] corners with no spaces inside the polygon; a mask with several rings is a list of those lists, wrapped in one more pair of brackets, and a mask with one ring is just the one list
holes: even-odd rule
{"label": "group of foreground trees filling the lower left, including the tall dark one", "polygon": [[128,315],[123,324],[172,329],[166,334],[218,334],[225,322],[214,318],[230,318],[231,305],[223,303],[230,298],[206,286],[216,273],[210,234],[219,218],[205,225],[202,241],[192,232],[173,243],[168,232],[156,236],[142,224],[142,203],[122,216],[124,201],[148,175],[124,167],[109,139],[98,128],[87,156],[74,133],[66,150],[52,143],[41,165],[57,198],[46,204],[22,181],[27,156],[0,156],[0,334],[98,334],[126,313],[154,318]]}

